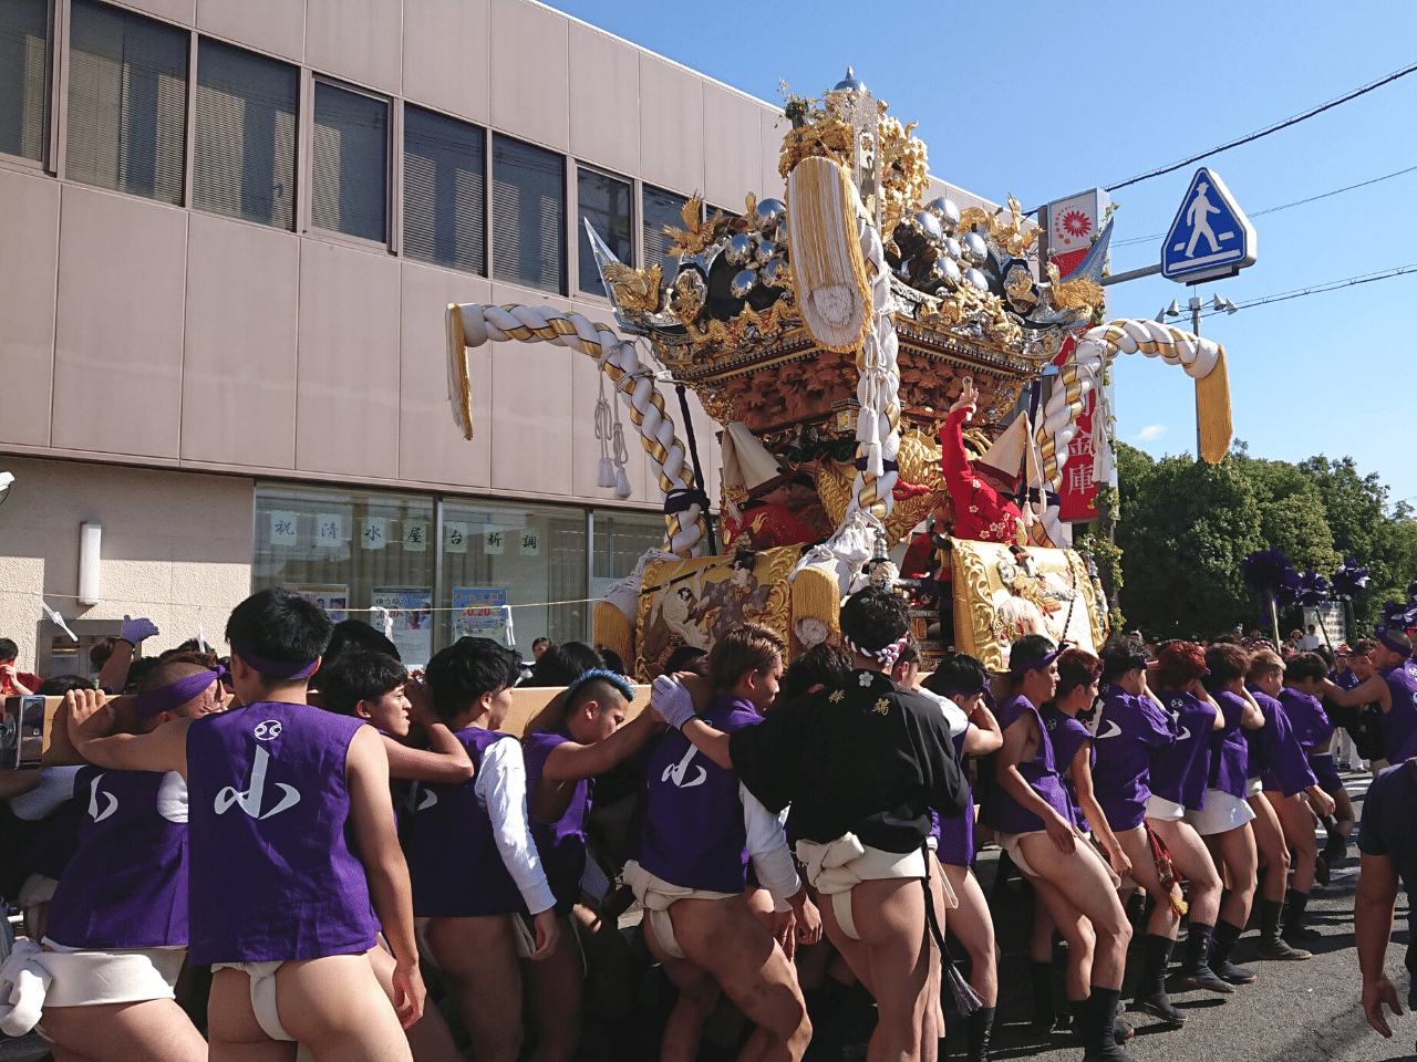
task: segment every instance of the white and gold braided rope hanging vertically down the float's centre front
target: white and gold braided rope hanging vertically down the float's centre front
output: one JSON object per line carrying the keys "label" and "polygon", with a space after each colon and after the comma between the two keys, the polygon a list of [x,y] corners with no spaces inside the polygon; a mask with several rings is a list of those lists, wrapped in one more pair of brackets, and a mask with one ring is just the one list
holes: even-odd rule
{"label": "white and gold braided rope hanging vertically down the float's centre front", "polygon": [[[896,309],[890,293],[890,266],[876,227],[857,218],[862,255],[876,270],[871,279],[871,327],[856,357],[860,377],[856,384],[856,456],[866,459],[866,467],[856,470],[852,501],[846,507],[840,527],[856,510],[866,510],[879,520],[894,507],[896,469],[886,462],[900,456],[900,368],[896,364],[897,340],[891,312]],[[840,530],[840,528],[839,528]]]}

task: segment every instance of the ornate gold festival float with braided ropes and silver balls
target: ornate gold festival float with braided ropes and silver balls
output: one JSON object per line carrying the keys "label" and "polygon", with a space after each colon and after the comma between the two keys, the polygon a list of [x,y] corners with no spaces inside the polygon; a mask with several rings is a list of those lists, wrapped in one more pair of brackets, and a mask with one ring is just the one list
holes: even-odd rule
{"label": "ornate gold festival float with braided ropes and silver balls", "polygon": [[[1196,381],[1202,456],[1219,462],[1224,348],[1151,320],[1100,323],[1111,221],[1064,273],[1039,261],[1039,228],[1012,195],[998,211],[922,201],[914,123],[850,71],[788,118],[786,201],[750,194],[740,217],[706,217],[691,200],[683,228],[665,229],[672,276],[619,262],[587,222],[618,331],[548,306],[449,306],[458,425],[470,439],[469,358],[489,341],[595,358],[665,501],[663,547],[594,615],[595,640],[639,681],[744,620],[779,630],[795,656],[833,637],[842,599],[871,581],[911,593],[927,657],[955,647],[1003,670],[1026,633],[1100,646],[1102,588],[1056,496],[1084,396],[1118,353],[1180,365]],[[665,385],[693,391],[721,426],[717,535]],[[949,411],[969,394],[962,422]],[[1105,453],[1107,418],[1093,421]],[[904,565],[914,578],[901,578],[888,551],[922,521]]]}

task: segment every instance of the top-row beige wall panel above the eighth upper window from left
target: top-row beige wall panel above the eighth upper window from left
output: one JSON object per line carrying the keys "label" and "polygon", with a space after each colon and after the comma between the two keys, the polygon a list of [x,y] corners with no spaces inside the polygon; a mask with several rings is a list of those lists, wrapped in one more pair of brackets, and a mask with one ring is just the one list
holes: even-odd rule
{"label": "top-row beige wall panel above the eighth upper window from left", "polygon": [[639,176],[649,184],[686,195],[703,191],[703,78],[640,52]]}

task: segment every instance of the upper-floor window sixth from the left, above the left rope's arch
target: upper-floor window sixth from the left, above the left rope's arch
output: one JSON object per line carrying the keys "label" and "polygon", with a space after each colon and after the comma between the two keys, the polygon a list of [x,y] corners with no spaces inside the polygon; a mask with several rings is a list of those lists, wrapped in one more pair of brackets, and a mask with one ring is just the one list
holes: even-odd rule
{"label": "upper-floor window sixth from the left, above the left rope's arch", "polygon": [[492,275],[565,295],[565,157],[492,140]]}

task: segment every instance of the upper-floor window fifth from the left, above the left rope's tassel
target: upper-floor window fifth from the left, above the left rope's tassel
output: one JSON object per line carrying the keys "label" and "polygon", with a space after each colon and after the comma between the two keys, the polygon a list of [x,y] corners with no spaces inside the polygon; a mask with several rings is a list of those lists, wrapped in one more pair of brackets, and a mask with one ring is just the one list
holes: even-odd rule
{"label": "upper-floor window fifth from the left, above the left rope's tassel", "polygon": [[404,106],[404,253],[486,275],[486,135]]}

